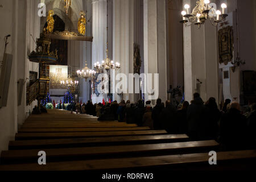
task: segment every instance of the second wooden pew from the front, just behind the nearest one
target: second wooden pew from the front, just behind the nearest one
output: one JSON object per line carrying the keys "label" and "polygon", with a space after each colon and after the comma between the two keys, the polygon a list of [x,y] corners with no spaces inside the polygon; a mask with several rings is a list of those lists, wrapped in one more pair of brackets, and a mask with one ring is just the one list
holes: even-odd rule
{"label": "second wooden pew from the front, just behind the nearest one", "polygon": [[68,160],[185,154],[191,152],[217,150],[217,148],[218,143],[216,141],[205,140],[197,142],[139,144],[128,146],[11,150],[2,151],[1,164],[37,162],[38,152],[40,150],[46,152],[48,162],[57,162]]}

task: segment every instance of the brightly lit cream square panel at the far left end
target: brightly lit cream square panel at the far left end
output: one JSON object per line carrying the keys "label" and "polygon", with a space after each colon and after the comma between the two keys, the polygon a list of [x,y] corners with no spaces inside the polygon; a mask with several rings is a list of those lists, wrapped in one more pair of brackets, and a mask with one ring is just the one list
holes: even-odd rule
{"label": "brightly lit cream square panel at the far left end", "polygon": [[67,89],[67,86],[61,85],[60,81],[68,80],[68,66],[50,65],[50,89]]}

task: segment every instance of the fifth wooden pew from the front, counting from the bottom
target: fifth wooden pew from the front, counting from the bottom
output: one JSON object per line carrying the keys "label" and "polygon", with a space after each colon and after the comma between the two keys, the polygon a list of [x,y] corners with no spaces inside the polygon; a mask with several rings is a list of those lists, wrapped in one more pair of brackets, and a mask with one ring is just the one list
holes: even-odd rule
{"label": "fifth wooden pew from the front, counting from the bottom", "polygon": [[91,127],[91,128],[22,128],[18,133],[81,132],[81,131],[130,131],[150,130],[150,127]]}

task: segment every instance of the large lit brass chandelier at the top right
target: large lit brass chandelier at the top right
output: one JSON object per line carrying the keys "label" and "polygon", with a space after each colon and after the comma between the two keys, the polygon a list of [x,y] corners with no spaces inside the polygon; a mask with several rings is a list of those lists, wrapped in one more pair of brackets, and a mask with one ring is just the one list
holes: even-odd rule
{"label": "large lit brass chandelier at the top right", "polygon": [[209,0],[199,0],[196,2],[196,6],[193,8],[192,13],[189,13],[189,5],[184,6],[186,11],[182,11],[181,15],[183,20],[180,23],[185,24],[185,26],[191,26],[191,24],[196,24],[199,28],[205,23],[205,20],[209,19],[213,26],[217,26],[218,23],[225,20],[228,14],[225,14],[225,9],[227,8],[225,3],[221,4],[222,12],[220,10],[214,9],[210,6]]}

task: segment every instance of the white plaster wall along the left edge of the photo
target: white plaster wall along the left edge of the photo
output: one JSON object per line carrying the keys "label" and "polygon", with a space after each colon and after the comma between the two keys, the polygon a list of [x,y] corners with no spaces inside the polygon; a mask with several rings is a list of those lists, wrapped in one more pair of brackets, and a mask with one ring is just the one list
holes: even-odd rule
{"label": "white plaster wall along the left edge of the photo", "polygon": [[[18,129],[18,106],[17,106],[17,63],[18,63],[18,1],[0,1],[2,25],[0,30],[0,60],[3,58],[3,50],[5,42],[4,36],[11,35],[9,38],[6,53],[13,55],[13,64],[11,69],[11,78],[9,85],[9,93],[7,98],[7,106],[0,109],[0,151],[7,150],[9,140],[14,139]],[[24,17],[25,18],[25,17]]]}

